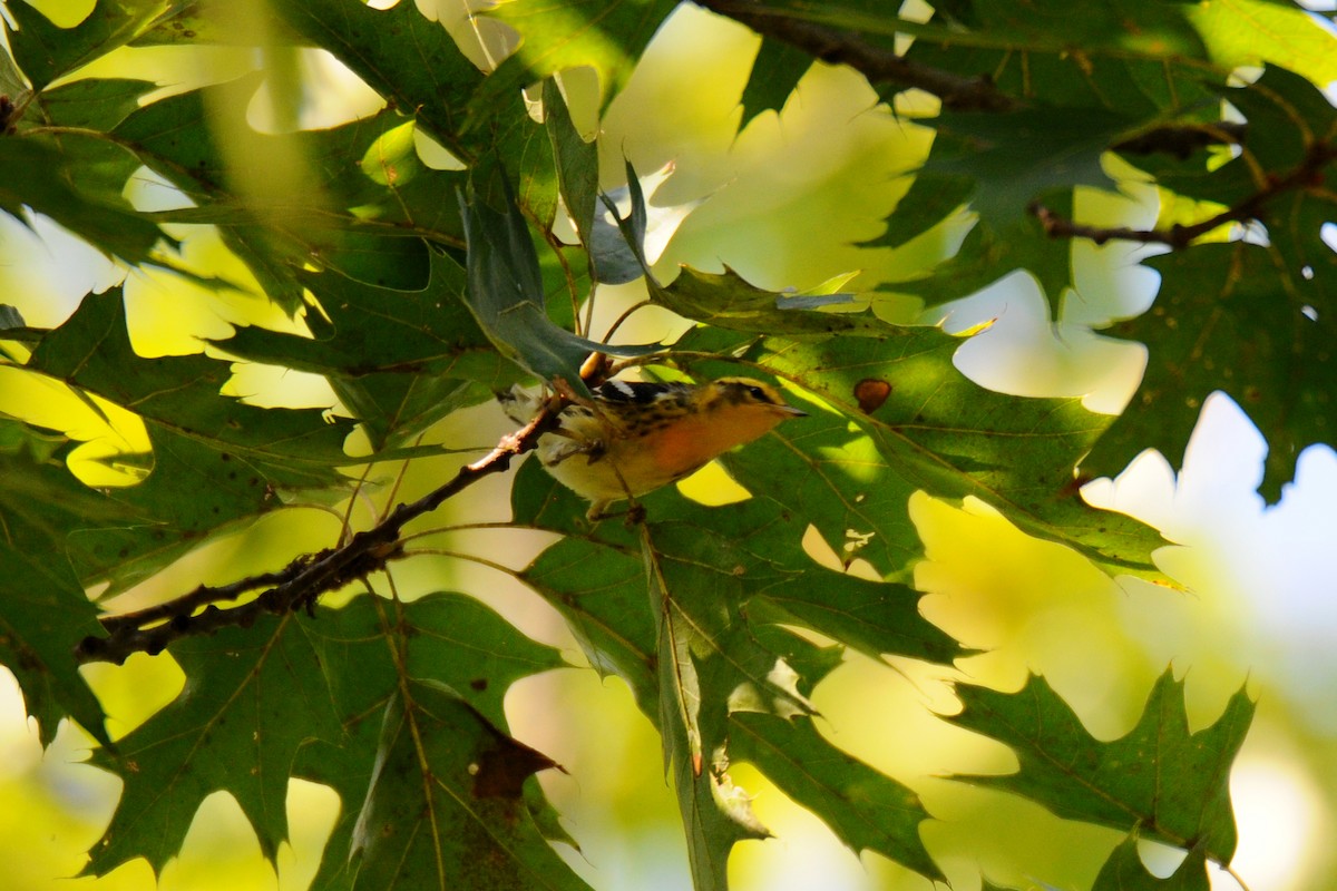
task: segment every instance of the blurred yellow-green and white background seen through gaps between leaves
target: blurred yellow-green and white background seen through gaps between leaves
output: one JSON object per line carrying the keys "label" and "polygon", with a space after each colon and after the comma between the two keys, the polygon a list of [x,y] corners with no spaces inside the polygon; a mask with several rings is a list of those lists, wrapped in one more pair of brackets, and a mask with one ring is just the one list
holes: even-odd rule
{"label": "blurred yellow-green and white background seen through gaps between leaves", "polygon": [[[57,21],[75,23],[92,3],[39,5]],[[465,27],[455,4],[427,8],[429,0],[421,0],[420,5],[452,27]],[[902,175],[923,162],[929,144],[928,131],[877,106],[862,77],[817,64],[779,114],[763,112],[738,132],[739,95],[757,45],[746,28],[685,5],[656,35],[599,122],[606,183],[618,183],[623,158],[643,172],[671,164],[652,203],[701,202],[682,220],[656,269],[686,262],[718,271],[727,263],[750,282],[777,290],[804,290],[857,270],[852,287],[870,289],[948,255],[952,239],[959,238],[951,226],[901,248],[854,247],[881,234],[884,208],[906,188]],[[316,51],[123,48],[83,73],[148,77],[175,92],[253,68],[266,77],[267,102],[258,98],[249,115],[262,130],[275,115],[295,115],[303,127],[329,126],[365,115],[378,102]],[[570,76],[567,88],[579,95],[580,77]],[[592,124],[591,111],[586,126]],[[299,183],[299,178],[275,175],[285,188]],[[151,206],[163,191],[143,176],[135,184],[135,200]],[[1126,198],[1079,192],[1079,200],[1087,203],[1084,210],[1111,220],[1150,222],[1157,215],[1150,190],[1134,188]],[[289,325],[274,306],[242,291],[205,293],[178,277],[127,274],[49,220],[36,219],[31,231],[8,218],[0,218],[0,291],[31,325],[59,323],[90,287],[122,278],[131,337],[144,355],[198,351],[201,338],[226,337],[237,323]],[[178,230],[194,262],[247,279],[205,227]],[[1116,409],[1135,386],[1142,351],[1092,335],[1087,325],[1146,306],[1154,275],[1134,269],[1144,248],[1082,243],[1074,250],[1082,298],[1070,299],[1056,321],[1024,275],[928,317],[916,299],[905,297],[901,321],[941,319],[951,330],[992,322],[957,357],[957,365],[977,381],[1025,394],[1082,394],[1098,410]],[[622,291],[623,306],[643,294],[639,283],[608,290]],[[618,310],[606,305],[603,311],[612,318]],[[638,315],[636,323],[640,329],[630,331],[628,339],[659,337],[663,326],[674,325],[655,313]],[[334,402],[318,378],[243,365],[237,370],[230,389],[265,405]],[[0,389],[25,417],[64,430],[100,427],[98,435],[80,437],[90,439],[88,458],[96,457],[103,437],[136,435],[134,425],[108,427],[72,398],[20,391],[20,382],[4,371]],[[431,438],[461,446],[487,446],[508,429],[492,406],[444,423]],[[928,617],[980,651],[959,665],[967,679],[1015,689],[1027,672],[1042,673],[1102,739],[1131,727],[1169,664],[1186,673],[1195,727],[1219,715],[1247,679],[1259,708],[1231,783],[1241,824],[1235,870],[1259,891],[1318,891],[1337,884],[1337,852],[1328,843],[1337,828],[1337,711],[1332,705],[1337,701],[1337,590],[1330,565],[1337,553],[1337,522],[1332,521],[1337,460],[1325,446],[1309,449],[1296,484],[1281,504],[1265,509],[1254,492],[1263,448],[1241,410],[1218,397],[1202,406],[1186,456],[1143,456],[1118,480],[1090,488],[1091,500],[1132,513],[1178,542],[1161,560],[1186,592],[1110,580],[1071,552],[1021,536],[984,506],[952,508],[924,496],[912,505],[927,548],[915,584],[929,592]],[[429,490],[456,464],[444,458],[414,464],[401,493]],[[86,470],[106,473],[94,462]],[[694,480],[689,492],[705,500],[721,497],[713,492],[717,485],[723,484]],[[508,480],[493,478],[452,500],[439,512],[440,525],[505,520],[507,486]],[[337,529],[336,512],[269,516],[124,594],[118,606],[281,565],[291,553],[324,546]],[[507,574],[448,553],[476,553],[519,566],[545,541],[541,534],[513,530],[461,530],[441,546],[440,556],[413,561],[404,572],[409,577],[421,573],[435,588],[485,592],[503,616],[532,637],[560,647],[574,663],[571,669],[520,681],[507,697],[515,735],[567,769],[544,772],[540,780],[580,839],[580,852],[564,851],[574,868],[604,888],[686,888],[682,827],[660,769],[660,744],[628,691],[615,679],[600,680],[579,667],[583,657],[560,618]],[[836,554],[829,558],[838,560]],[[953,887],[971,891],[979,872],[1000,884],[1038,887],[1016,852],[1035,856],[1050,848],[1044,859],[1056,871],[1047,882],[1059,888],[1090,887],[1119,834],[1090,826],[1058,832],[1059,818],[1035,804],[940,779],[948,772],[1007,771],[1012,756],[932,716],[935,709],[955,709],[943,669],[908,660],[896,669],[888,672],[849,653],[817,689],[816,705],[838,745],[921,793],[937,818],[925,827],[925,842]],[[170,701],[182,684],[182,673],[166,656],[135,656],[120,668],[83,671],[111,716],[114,735]],[[100,879],[70,878],[82,870],[86,850],[106,827],[119,793],[115,779],[82,763],[87,747],[82,732],[66,724],[43,752],[12,679],[0,684],[4,887],[152,887],[152,874],[142,862]],[[927,879],[876,855],[854,858],[755,771],[737,768],[735,781],[755,795],[758,816],[777,836],[739,846],[730,863],[735,887],[931,887]],[[294,781],[287,807],[293,840],[279,854],[277,876],[235,803],[219,793],[197,815],[185,851],[158,887],[306,887],[338,800],[329,789]],[[1218,888],[1234,887],[1229,878],[1214,879]]]}

